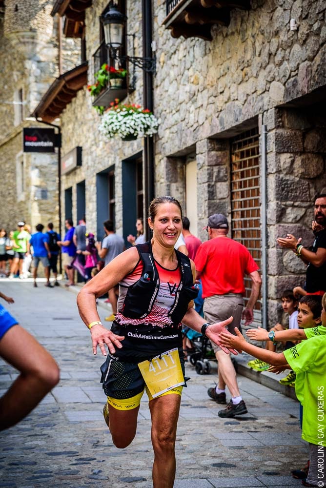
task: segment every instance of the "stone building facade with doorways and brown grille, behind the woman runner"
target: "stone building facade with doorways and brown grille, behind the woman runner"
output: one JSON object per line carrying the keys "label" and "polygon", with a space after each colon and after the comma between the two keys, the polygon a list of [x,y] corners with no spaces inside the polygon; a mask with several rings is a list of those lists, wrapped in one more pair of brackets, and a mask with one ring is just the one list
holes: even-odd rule
{"label": "stone building facade with doorways and brown grille, behind the woman runner", "polygon": [[[93,1],[85,10],[90,84],[107,4]],[[226,12],[224,25],[209,24],[206,39],[191,34],[203,32],[203,25],[196,27],[184,2],[173,2],[170,12],[169,4],[152,1],[154,112],[161,122],[154,138],[155,194],[179,198],[190,230],[202,239],[211,213],[228,216],[232,236],[264,265],[262,302],[273,324],[282,290],[303,285],[305,273],[276,238],[290,232],[312,242],[313,198],[326,187],[326,4],[235,1],[239,8]],[[142,56],[142,2],[119,1],[122,7],[134,35],[127,54]],[[181,23],[173,26],[173,19]],[[176,38],[178,32],[186,39]],[[142,103],[140,68],[136,76],[127,100]],[[137,195],[145,191],[144,177],[142,183],[136,178],[139,168],[144,175],[143,140],[105,140],[92,102],[84,88],[61,113],[62,154],[82,147],[82,166],[62,177],[65,216],[76,221],[85,209],[88,229],[102,238],[102,222],[113,212],[117,232],[126,237],[140,211]]]}

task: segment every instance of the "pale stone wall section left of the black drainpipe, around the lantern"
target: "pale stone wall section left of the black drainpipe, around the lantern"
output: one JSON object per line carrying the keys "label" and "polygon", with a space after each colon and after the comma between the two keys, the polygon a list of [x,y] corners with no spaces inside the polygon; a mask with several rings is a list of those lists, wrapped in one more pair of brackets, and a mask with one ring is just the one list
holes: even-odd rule
{"label": "pale stone wall section left of the black drainpipe, around the lantern", "polygon": [[[99,17],[106,7],[106,1],[99,1],[94,8],[86,10],[86,49],[89,60],[88,83],[93,83],[93,54],[100,45]],[[135,34],[135,56],[142,56],[141,3],[128,3],[128,32]],[[132,19],[132,21],[131,21]],[[131,48],[131,46],[130,46]],[[129,52],[131,55],[131,53]],[[143,72],[136,69],[136,90],[129,94],[130,103],[142,103]],[[62,177],[62,208],[64,208],[64,188],[72,187],[73,220],[77,221],[76,184],[86,181],[86,219],[87,228],[96,233],[97,200],[96,174],[114,166],[116,197],[116,230],[122,235],[122,161],[142,151],[143,141],[122,142],[120,139],[107,140],[98,131],[100,117],[92,106],[92,97],[86,90],[78,92],[77,97],[61,114],[62,154],[76,146],[82,146],[82,167]],[[76,130],[78,127],[78,130]]]}

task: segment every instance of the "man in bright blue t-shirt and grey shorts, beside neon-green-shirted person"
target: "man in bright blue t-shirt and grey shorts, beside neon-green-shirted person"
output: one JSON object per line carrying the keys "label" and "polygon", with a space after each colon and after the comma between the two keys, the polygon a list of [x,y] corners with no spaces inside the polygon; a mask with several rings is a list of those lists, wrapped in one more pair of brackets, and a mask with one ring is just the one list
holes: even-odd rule
{"label": "man in bright blue t-shirt and grey shorts, beside neon-green-shirted person", "polygon": [[50,283],[50,263],[49,258],[51,257],[51,252],[49,249],[49,235],[43,234],[42,230],[44,229],[43,224],[37,224],[35,234],[32,234],[32,237],[29,241],[28,247],[33,246],[33,277],[34,277],[34,287],[37,287],[36,278],[38,275],[38,267],[39,263],[44,266],[44,273],[46,277],[45,286],[48,288],[53,288],[53,285]]}

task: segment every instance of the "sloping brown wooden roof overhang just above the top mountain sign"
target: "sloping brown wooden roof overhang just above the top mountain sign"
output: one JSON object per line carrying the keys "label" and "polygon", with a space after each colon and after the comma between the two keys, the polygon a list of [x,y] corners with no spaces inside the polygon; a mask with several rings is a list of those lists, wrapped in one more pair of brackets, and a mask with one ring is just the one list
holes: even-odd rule
{"label": "sloping brown wooden roof overhang just above the top mountain sign", "polygon": [[52,122],[60,117],[68,103],[87,83],[87,66],[88,63],[85,61],[80,66],[56,78],[31,116],[36,119],[41,118],[44,122]]}

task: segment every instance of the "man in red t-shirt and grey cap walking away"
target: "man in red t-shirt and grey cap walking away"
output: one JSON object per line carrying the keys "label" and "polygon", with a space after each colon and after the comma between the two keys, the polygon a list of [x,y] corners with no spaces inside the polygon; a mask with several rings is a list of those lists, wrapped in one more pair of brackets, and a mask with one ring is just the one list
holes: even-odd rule
{"label": "man in red t-shirt and grey cap walking away", "polygon": [[[262,279],[248,249],[227,237],[228,228],[227,219],[223,214],[213,214],[209,217],[206,227],[209,240],[198,248],[195,264],[196,278],[201,278],[203,285],[205,319],[215,323],[232,315],[233,321],[227,328],[234,334],[235,327],[241,330],[242,318],[245,319],[245,325],[252,323],[253,308],[259,297]],[[243,309],[245,275],[251,278],[252,288],[248,303]],[[231,358],[218,346],[212,346],[219,364],[219,383],[216,388],[208,389],[208,396],[218,403],[226,403],[226,385],[231,400],[224,410],[219,411],[219,416],[243,415],[247,413],[247,409],[240,395]]]}

